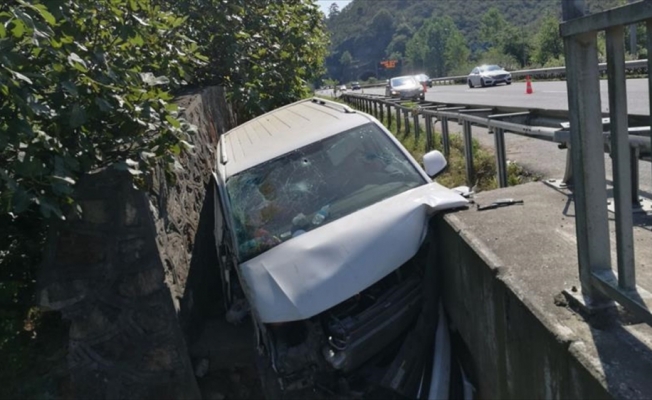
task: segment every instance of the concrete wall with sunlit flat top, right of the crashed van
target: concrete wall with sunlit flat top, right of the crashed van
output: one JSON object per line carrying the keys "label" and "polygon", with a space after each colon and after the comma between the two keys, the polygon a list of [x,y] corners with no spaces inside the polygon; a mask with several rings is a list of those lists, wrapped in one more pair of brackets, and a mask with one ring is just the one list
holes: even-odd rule
{"label": "concrete wall with sunlit flat top, right of the crashed van", "polygon": [[618,308],[584,315],[561,295],[579,286],[570,194],[537,182],[475,201],[499,198],[524,205],[435,221],[444,304],[478,398],[650,398],[650,326]]}

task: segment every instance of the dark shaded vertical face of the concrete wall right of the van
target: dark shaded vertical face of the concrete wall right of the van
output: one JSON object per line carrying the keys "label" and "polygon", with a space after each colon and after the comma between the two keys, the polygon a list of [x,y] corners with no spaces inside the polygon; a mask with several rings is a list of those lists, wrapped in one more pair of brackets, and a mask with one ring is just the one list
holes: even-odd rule
{"label": "dark shaded vertical face of the concrete wall right of the van", "polygon": [[479,398],[610,398],[510,287],[499,265],[439,221],[444,301],[467,346]]}

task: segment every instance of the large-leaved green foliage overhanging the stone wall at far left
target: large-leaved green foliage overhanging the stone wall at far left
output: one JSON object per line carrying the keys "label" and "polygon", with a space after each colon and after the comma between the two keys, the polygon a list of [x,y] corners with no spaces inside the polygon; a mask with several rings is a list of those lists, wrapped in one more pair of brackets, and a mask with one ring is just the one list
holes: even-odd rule
{"label": "large-leaved green foliage overhanging the stone wall at far left", "polygon": [[171,165],[187,124],[170,90],[198,65],[185,19],[149,0],[0,6],[0,209],[64,217],[81,173]]}

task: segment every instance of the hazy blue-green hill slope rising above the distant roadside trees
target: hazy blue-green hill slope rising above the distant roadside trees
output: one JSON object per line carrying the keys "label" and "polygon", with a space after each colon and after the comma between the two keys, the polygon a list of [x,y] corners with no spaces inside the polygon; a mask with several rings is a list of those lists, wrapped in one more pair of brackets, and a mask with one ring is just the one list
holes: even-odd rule
{"label": "hazy blue-green hill slope rising above the distant roadside trees", "polygon": [[[405,56],[405,43],[429,18],[449,16],[477,59],[487,49],[480,36],[482,16],[492,7],[531,41],[545,15],[559,16],[562,0],[353,0],[330,13],[329,75],[336,79],[384,77],[379,62],[390,55]],[[612,8],[623,0],[587,0],[589,12]],[[342,56],[348,52],[351,56]],[[393,57],[395,58],[395,57]],[[413,70],[406,65],[408,70]],[[418,69],[418,68],[417,68]]]}

